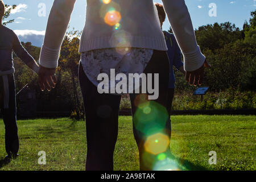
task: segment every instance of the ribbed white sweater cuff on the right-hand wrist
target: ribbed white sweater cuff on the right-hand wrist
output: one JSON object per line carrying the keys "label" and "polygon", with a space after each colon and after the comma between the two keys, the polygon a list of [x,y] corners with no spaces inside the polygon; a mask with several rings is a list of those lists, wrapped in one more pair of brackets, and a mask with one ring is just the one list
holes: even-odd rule
{"label": "ribbed white sweater cuff on the right-hand wrist", "polygon": [[192,72],[202,67],[205,61],[205,56],[201,53],[200,47],[197,46],[196,51],[184,53],[184,69]]}

